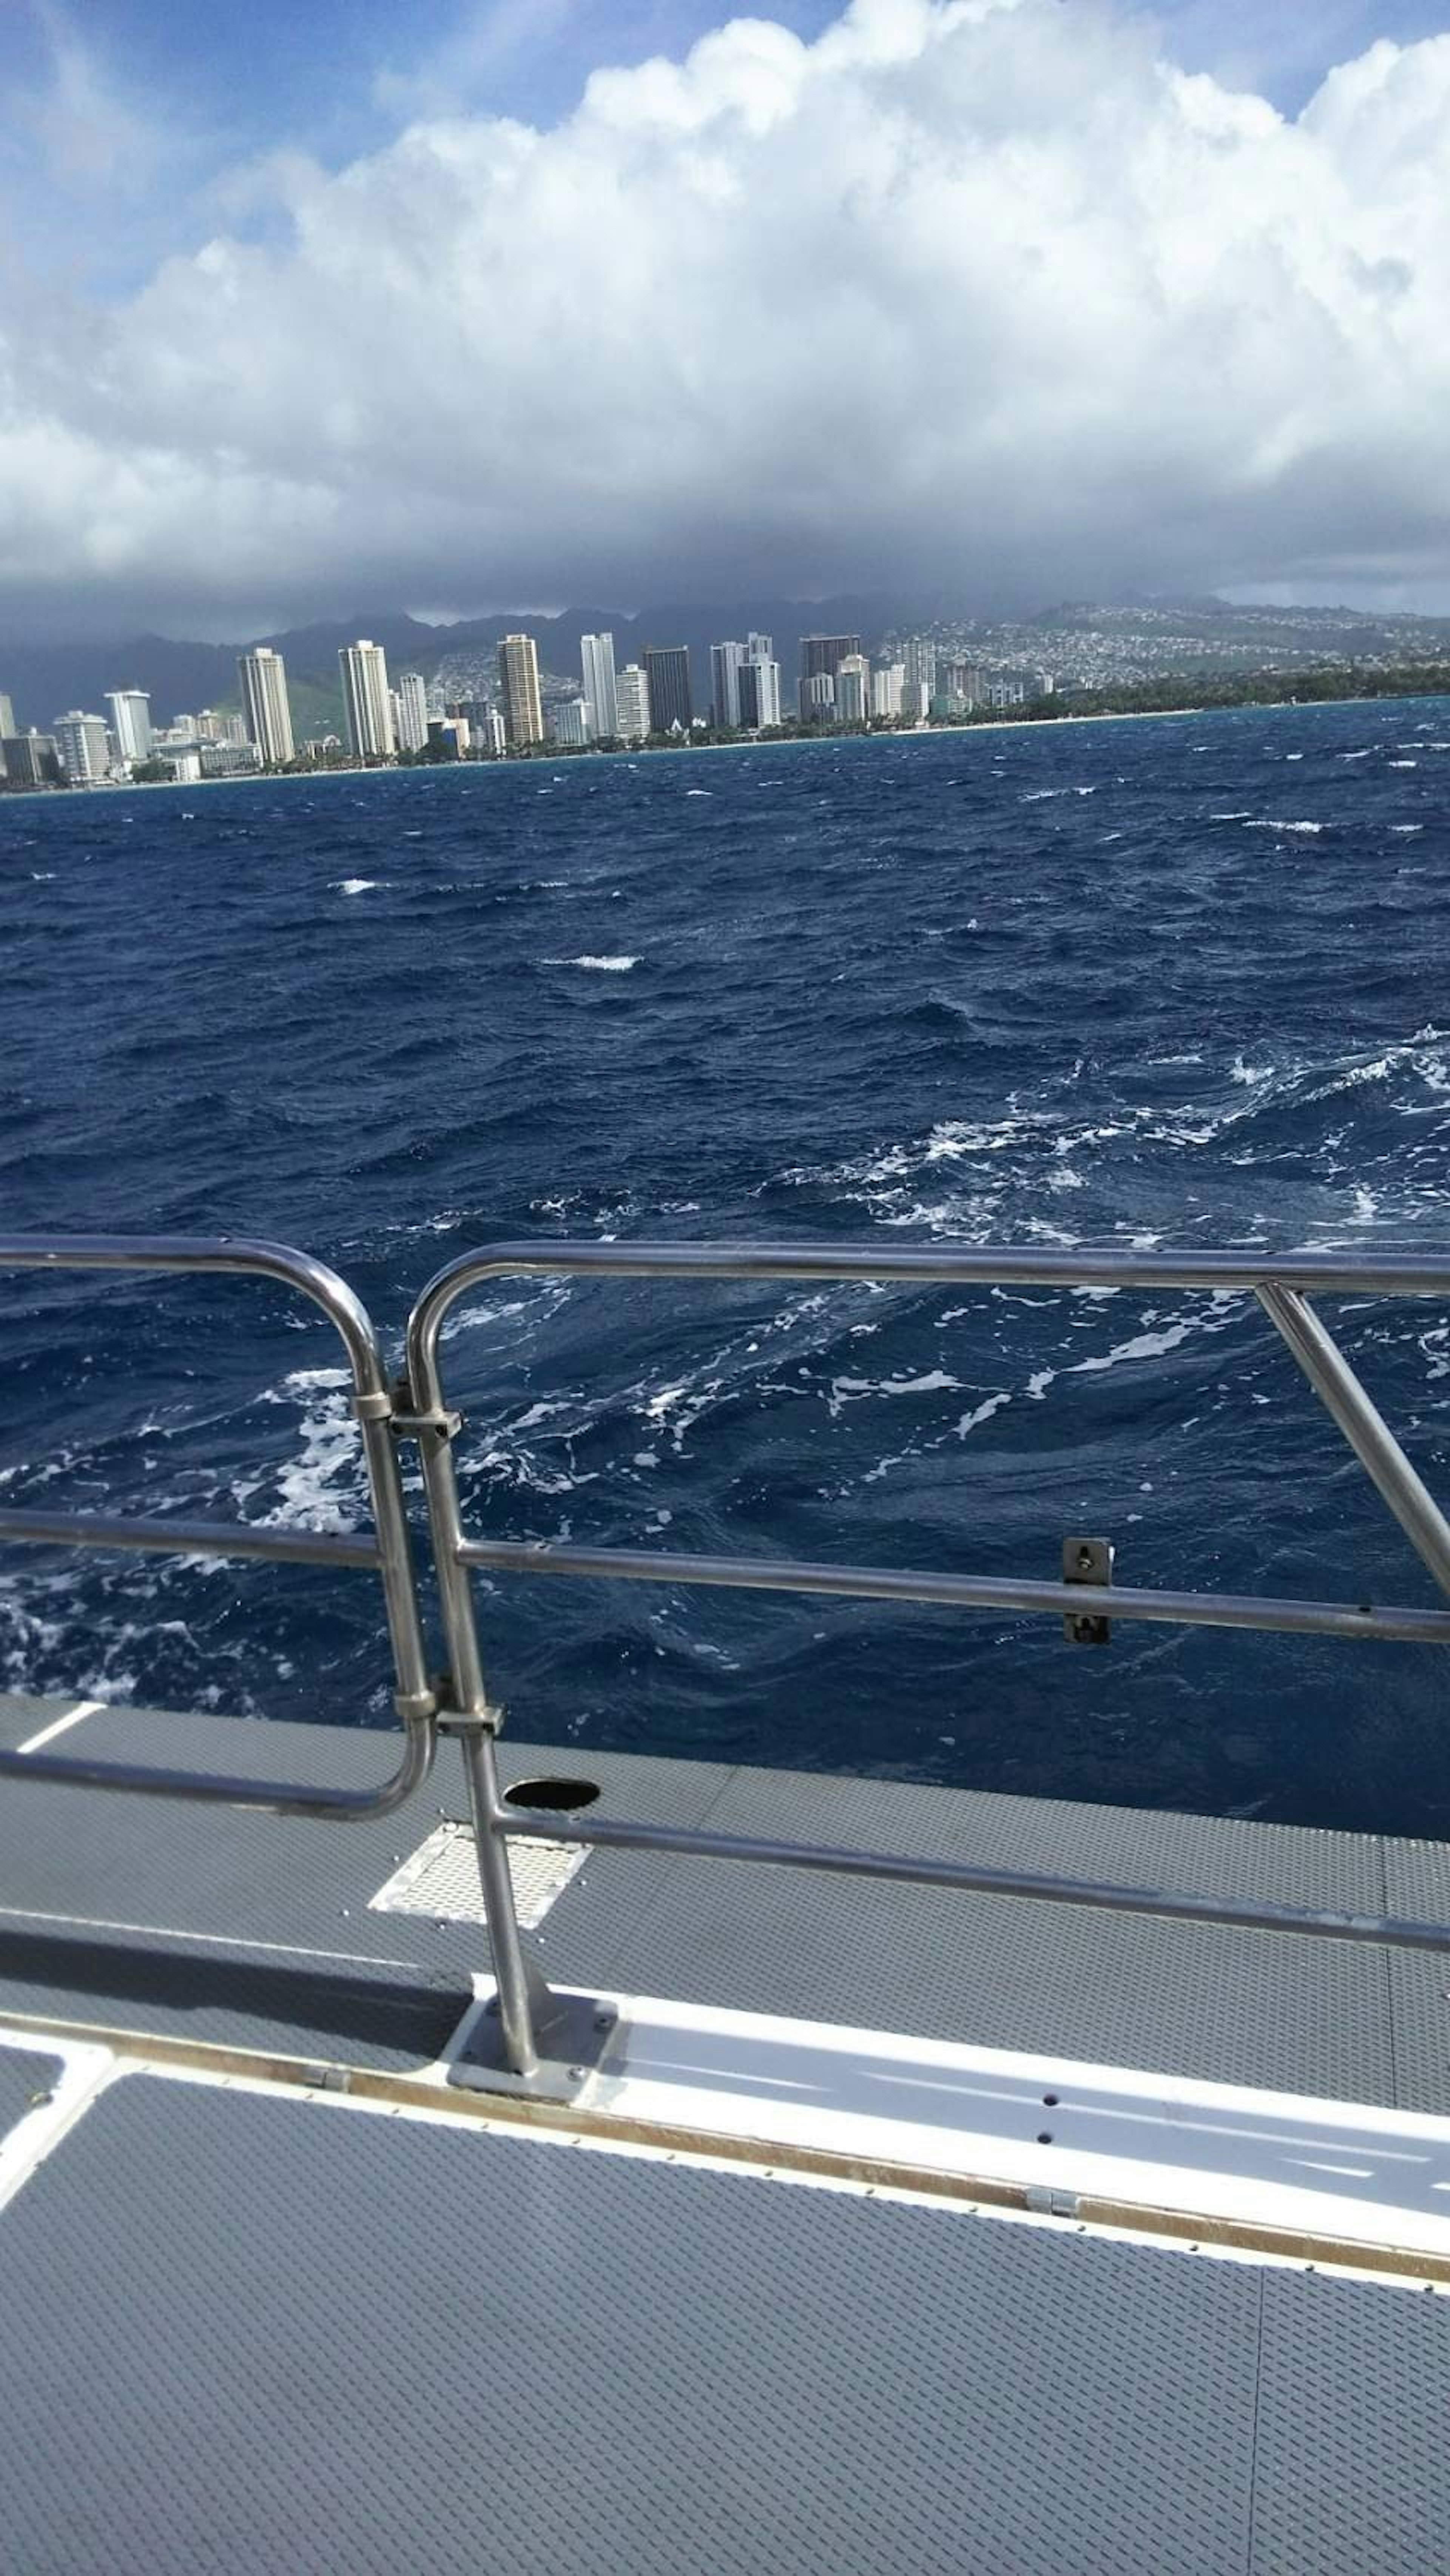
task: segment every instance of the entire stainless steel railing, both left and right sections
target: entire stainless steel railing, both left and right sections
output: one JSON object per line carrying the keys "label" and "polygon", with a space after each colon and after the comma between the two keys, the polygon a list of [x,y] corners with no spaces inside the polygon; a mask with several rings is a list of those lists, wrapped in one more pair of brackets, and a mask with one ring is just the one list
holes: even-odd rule
{"label": "entire stainless steel railing, both left and right sections", "polygon": [[[912,1860],[896,1852],[837,1850],[716,1834],[621,1819],[533,1811],[505,1803],[494,1736],[502,1710],[489,1700],[471,1600],[471,1569],[505,1574],[590,1577],[623,1582],[724,1584],[770,1592],[832,1592],[855,1600],[935,1602],[956,1610],[1051,1615],[1069,1633],[1092,1633],[1110,1618],[1172,1620],[1218,1628],[1267,1628],[1339,1638],[1406,1638],[1450,1643],[1450,1607],[1419,1610],[1370,1602],[1275,1600],[1262,1595],[1131,1589],[1110,1582],[1035,1582],[1004,1577],[899,1571],[883,1566],[801,1564],[793,1558],[670,1556],[641,1548],[577,1548],[528,1540],[469,1538],[458,1507],[453,1440],[461,1417],[448,1409],[440,1376],[440,1329],[451,1306],[489,1278],[662,1278],[662,1280],[824,1280],[943,1288],[1169,1288],[1180,1293],[1244,1291],[1283,1334],[1316,1396],[1360,1458],[1373,1486],[1406,1530],[1450,1600],[1450,1522],[1422,1484],[1398,1440],[1370,1404],[1344,1352],[1308,1303],[1324,1296],[1437,1296],[1450,1303],[1450,1257],[1252,1255],[1185,1252],[945,1252],[878,1244],[497,1244],[451,1262],[417,1298],[407,1321],[407,1376],[389,1391],[379,1340],[366,1309],[337,1273],[283,1244],[188,1236],[0,1236],[0,1267],[21,1270],[180,1270],[245,1273],[309,1296],[343,1337],[353,1376],[373,1530],[355,1535],[276,1530],[258,1522],[131,1520],[93,1512],[0,1510],[0,1543],[147,1548],[175,1556],[265,1556],[283,1564],[368,1566],[381,1577],[394,1659],[394,1705],[404,1721],[402,1762],[376,1790],[314,1788],[291,1780],[245,1780],[211,1772],[142,1770],[75,1757],[0,1754],[0,1777],[64,1780],[82,1788],[142,1790],[273,1808],[288,1816],[376,1816],[399,1806],[428,1775],[438,1734],[461,1739],[479,1883],[494,1953],[500,2032],[507,2066],[528,2079],[561,2027],[561,2007],[531,1958],[515,1914],[510,1837],[546,1837],[595,1850],[652,1850],[711,1860],[775,1862],[858,1878],[909,1880],[984,1896],[1040,1899],[1169,1922],[1298,1932],[1329,1940],[1450,1950],[1450,1927],[1391,1914],[1339,1914],[1288,1904],[1221,1904],[1174,1888],[1118,1886],[1056,1873],[997,1870],[974,1862]],[[438,1607],[451,1669],[428,1680],[422,1620],[412,1571],[410,1522],[397,1440],[417,1440],[433,1535]],[[1095,1543],[1082,1543],[1089,1556]]]}

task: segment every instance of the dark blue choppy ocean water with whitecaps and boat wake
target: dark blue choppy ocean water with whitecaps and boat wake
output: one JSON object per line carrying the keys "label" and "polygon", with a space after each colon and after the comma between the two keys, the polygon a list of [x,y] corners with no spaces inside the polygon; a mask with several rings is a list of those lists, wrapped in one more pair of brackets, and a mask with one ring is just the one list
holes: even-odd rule
{"label": "dark blue choppy ocean water with whitecaps and boat wake", "polygon": [[[1450,1239],[1450,703],[0,804],[8,1226],[464,1247]],[[1450,1492],[1450,1316],[1334,1309]],[[0,1278],[0,1497],[363,1517],[325,1321]],[[1252,1298],[497,1283],[479,1533],[1429,1600]],[[479,1584],[587,1747],[1450,1832],[1435,1649]],[[381,1726],[366,1574],[8,1551],[0,1677]]]}

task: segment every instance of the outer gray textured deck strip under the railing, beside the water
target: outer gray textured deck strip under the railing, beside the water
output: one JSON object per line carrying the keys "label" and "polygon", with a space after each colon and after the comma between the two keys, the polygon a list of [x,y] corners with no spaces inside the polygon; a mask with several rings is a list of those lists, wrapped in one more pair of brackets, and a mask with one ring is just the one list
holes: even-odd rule
{"label": "outer gray textured deck strip under the railing, beside the water", "polygon": [[[54,1703],[3,1703],[23,1739]],[[314,1780],[379,1780],[386,1736],[106,1710],[57,1749]],[[1450,1919],[1450,1852],[1370,1834],[1136,1814],[531,1747],[505,1777],[598,1780],[600,1814],[860,1842],[1007,1868]],[[371,1914],[368,1896],[446,1811],[458,1754],[379,1824],[296,1824],[0,1783],[0,2009],[363,2066],[438,2056],[487,1971],[476,1924]],[[57,1919],[59,1917],[59,1919]],[[126,1929],[131,1927],[131,1929]],[[567,1984],[863,2022],[1450,2110],[1445,1955],[1089,1914],[796,1870],[595,1855],[538,1955]]]}

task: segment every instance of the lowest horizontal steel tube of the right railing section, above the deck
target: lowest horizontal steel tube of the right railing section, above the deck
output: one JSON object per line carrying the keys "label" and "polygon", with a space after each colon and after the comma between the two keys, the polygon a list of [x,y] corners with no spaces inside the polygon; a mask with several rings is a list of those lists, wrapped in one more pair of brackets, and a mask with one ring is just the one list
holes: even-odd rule
{"label": "lowest horizontal steel tube of the right railing section, above the deck", "polygon": [[1404,1914],[1334,1914],[1313,1906],[1221,1904],[1174,1888],[1133,1888],[1110,1878],[1056,1878],[1040,1870],[992,1870],[968,1860],[909,1860],[899,1852],[855,1852],[829,1842],[767,1842],[757,1834],[711,1834],[675,1824],[616,1824],[613,1819],[507,1808],[494,1832],[582,1842],[603,1852],[675,1852],[698,1860],[765,1860],[783,1870],[829,1870],[842,1878],[894,1878],[922,1888],[958,1888],[968,1896],[1025,1896],[1100,1914],[1154,1914],[1167,1922],[1223,1924],[1234,1932],[1303,1932],[1313,1940],[1360,1940],[1388,1950],[1450,1950],[1450,1924]]}

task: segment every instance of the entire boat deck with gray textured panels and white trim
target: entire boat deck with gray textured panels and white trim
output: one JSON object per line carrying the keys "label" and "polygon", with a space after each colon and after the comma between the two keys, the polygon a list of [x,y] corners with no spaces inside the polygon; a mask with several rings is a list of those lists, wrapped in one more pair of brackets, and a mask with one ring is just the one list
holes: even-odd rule
{"label": "entire boat deck with gray textured panels and white trim", "polygon": [[[0,1741],[64,1716],[3,1700]],[[134,1710],[80,1736],[348,1785],[389,1754]],[[1429,1844],[510,1736],[500,1765],[587,1777],[600,1814],[1450,1917]],[[536,2110],[458,2089],[492,1991],[464,1814],[453,1749],[422,1801],[345,1829],[5,1785],[0,2568],[1445,2566],[1447,2264],[1391,2280],[1365,2277],[1373,2251],[1324,2269],[1210,2226],[1133,2236],[1071,2190],[811,2154],[760,2102],[824,2092],[871,2032],[909,2043],[914,2099],[966,2081],[961,2050],[1038,2069],[1017,2092],[1002,2074],[1017,2128],[1053,2081],[1071,2130],[1087,2071],[1141,2069],[1180,2128],[1195,2087],[1254,2094],[1283,2136],[1285,2097],[1344,2105],[1450,2210],[1450,1955],[657,1852],[569,1875],[515,1850],[551,1981],[657,2014],[654,2094],[600,2076]],[[652,2125],[675,2009],[677,2061],[747,2030],[755,2056],[706,2076],[742,2094],[734,2128]],[[1350,2179],[1373,2161],[1344,2151],[1337,2187],[1380,2192]]]}

